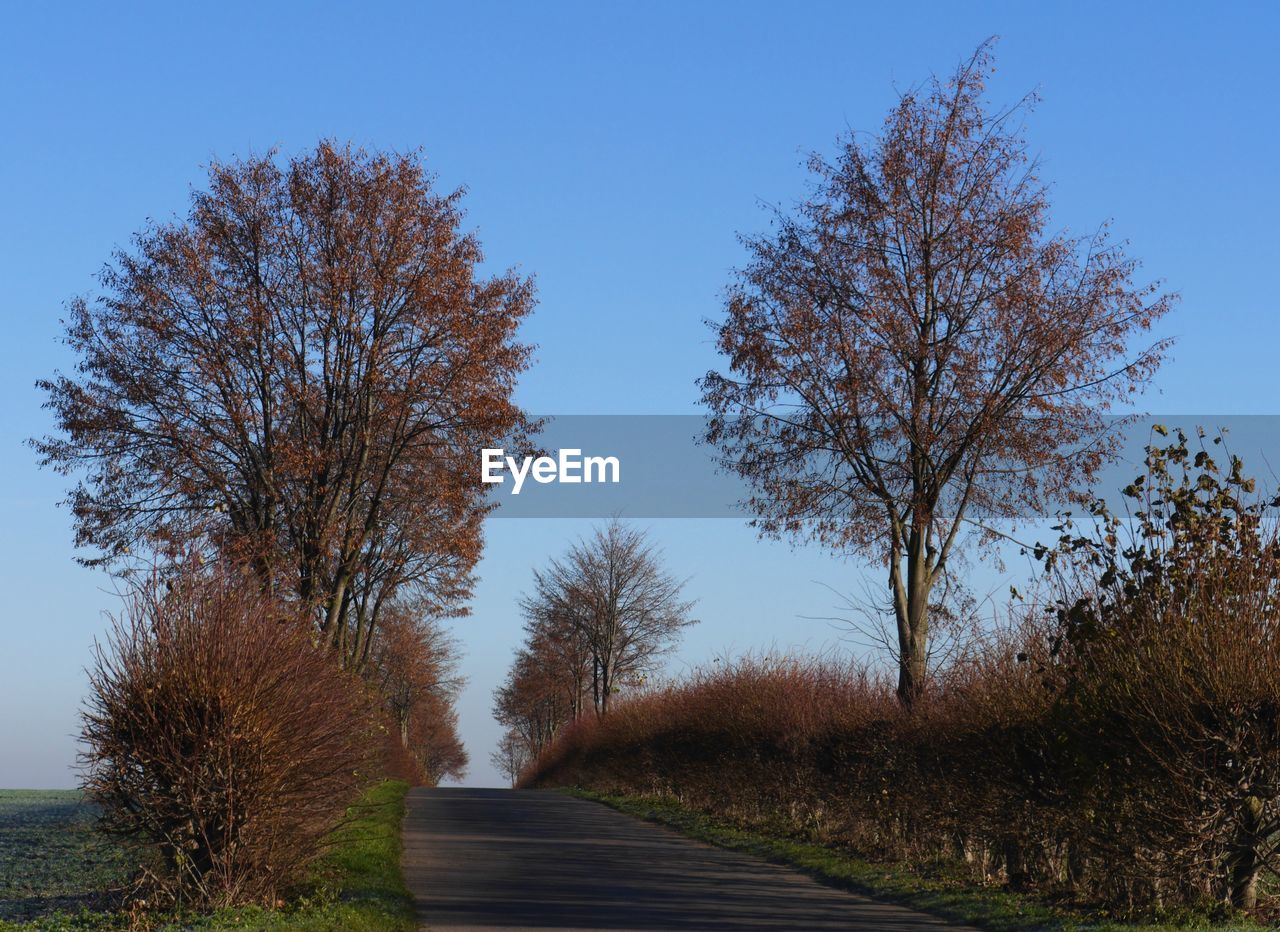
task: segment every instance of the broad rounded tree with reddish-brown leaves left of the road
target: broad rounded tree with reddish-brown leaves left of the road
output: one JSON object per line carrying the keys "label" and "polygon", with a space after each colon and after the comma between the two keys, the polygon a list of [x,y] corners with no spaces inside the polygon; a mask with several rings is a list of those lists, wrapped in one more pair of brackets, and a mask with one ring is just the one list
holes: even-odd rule
{"label": "broad rounded tree with reddish-brown leaves left of the road", "polygon": [[77,543],[118,562],[200,540],[312,607],[346,663],[416,590],[461,611],[486,511],[475,451],[516,442],[530,282],[481,278],[412,155],[321,143],[215,163],[184,221],[140,234],[70,309],[42,383],[84,470]]}

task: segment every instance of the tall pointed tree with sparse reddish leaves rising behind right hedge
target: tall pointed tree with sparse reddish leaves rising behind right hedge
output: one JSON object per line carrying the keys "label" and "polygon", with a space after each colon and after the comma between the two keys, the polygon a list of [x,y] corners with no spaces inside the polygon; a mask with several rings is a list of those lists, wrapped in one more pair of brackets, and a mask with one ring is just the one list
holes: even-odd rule
{"label": "tall pointed tree with sparse reddish leaves rising behind right hedge", "polygon": [[701,379],[707,431],[763,534],[881,559],[899,695],[924,687],[929,602],[966,524],[1044,513],[1114,452],[1103,415],[1166,344],[1170,307],[1106,228],[1050,232],[1015,125],[984,108],[989,44],[850,136],[750,264]]}

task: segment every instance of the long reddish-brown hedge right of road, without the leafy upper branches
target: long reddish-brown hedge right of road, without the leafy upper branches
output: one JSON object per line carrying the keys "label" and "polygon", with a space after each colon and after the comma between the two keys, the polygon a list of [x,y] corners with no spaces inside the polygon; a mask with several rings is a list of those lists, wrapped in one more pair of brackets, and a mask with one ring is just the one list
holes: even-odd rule
{"label": "long reddish-brown hedge right of road, without the leafy upper branches", "polygon": [[1108,638],[1076,679],[1028,623],[910,712],[855,666],[740,661],[577,721],[522,783],[673,795],[1123,909],[1252,905],[1280,827],[1280,644],[1260,634],[1203,613]]}

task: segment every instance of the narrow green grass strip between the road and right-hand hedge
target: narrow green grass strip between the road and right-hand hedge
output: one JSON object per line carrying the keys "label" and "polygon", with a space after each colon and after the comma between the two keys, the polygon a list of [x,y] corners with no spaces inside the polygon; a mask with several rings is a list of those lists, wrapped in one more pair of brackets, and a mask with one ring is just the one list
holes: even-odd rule
{"label": "narrow green grass strip between the road and right-hand hedge", "polygon": [[1215,920],[1201,915],[1161,917],[1157,922],[1124,922],[1096,913],[1015,894],[995,886],[979,886],[940,867],[932,872],[902,865],[860,860],[845,851],[799,841],[782,835],[744,830],[719,818],[690,809],[669,796],[616,796],[580,787],[564,789],[580,799],[603,803],[621,813],[675,828],[717,848],[753,854],[776,864],[796,868],[823,883],[864,894],[934,915],[1005,932],[1012,929],[1089,929],[1103,932],[1156,932],[1157,929],[1256,929],[1242,918]]}

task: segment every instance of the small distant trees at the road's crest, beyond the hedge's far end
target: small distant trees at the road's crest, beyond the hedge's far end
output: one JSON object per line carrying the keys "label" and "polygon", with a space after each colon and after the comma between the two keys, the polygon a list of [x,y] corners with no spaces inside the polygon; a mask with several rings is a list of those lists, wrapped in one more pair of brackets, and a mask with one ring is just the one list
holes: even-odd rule
{"label": "small distant trees at the road's crest, beyond the hedge's far end", "polygon": [[617,518],[534,572],[521,600],[525,644],[494,696],[507,731],[493,760],[512,782],[563,725],[607,714],[653,672],[695,621],[684,585],[646,535]]}

